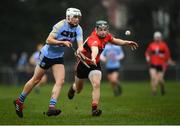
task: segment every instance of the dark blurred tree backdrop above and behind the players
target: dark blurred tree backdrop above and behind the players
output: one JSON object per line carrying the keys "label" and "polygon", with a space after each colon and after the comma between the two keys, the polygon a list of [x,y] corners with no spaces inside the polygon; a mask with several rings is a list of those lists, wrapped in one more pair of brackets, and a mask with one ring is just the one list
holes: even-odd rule
{"label": "dark blurred tree backdrop above and behind the players", "polygon": [[[68,7],[82,11],[81,26],[84,39],[94,28],[96,20],[110,22],[110,31],[122,39],[137,41],[140,48],[131,53],[125,47],[129,65],[144,64],[144,51],[159,30],[170,47],[172,58],[180,56],[179,0],[1,0],[0,4],[0,66],[12,64],[12,54],[31,55],[38,43],[45,43],[54,24],[65,18]],[[124,31],[130,29],[131,36]],[[71,62],[72,51],[66,51]],[[128,65],[125,63],[125,66]]]}

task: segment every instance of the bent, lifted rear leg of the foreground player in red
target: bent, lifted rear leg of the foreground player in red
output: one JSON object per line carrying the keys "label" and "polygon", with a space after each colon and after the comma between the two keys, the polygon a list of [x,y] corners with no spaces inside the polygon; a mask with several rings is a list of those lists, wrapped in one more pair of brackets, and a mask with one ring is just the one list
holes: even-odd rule
{"label": "bent, lifted rear leg of the foreground player in red", "polygon": [[84,79],[80,79],[77,76],[75,76],[75,81],[68,91],[69,99],[73,99],[75,92],[76,93],[81,92],[81,90],[83,89],[83,83],[84,83]]}

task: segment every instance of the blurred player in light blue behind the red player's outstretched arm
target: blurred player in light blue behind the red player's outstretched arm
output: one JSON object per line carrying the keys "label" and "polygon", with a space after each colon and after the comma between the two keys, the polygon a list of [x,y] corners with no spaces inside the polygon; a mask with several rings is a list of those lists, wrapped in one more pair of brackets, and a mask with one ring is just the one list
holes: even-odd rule
{"label": "blurred player in light blue behind the red player's outstretched arm", "polygon": [[100,59],[106,63],[107,78],[110,81],[114,95],[119,96],[122,93],[119,82],[119,69],[124,58],[124,52],[121,46],[107,44],[102,52]]}

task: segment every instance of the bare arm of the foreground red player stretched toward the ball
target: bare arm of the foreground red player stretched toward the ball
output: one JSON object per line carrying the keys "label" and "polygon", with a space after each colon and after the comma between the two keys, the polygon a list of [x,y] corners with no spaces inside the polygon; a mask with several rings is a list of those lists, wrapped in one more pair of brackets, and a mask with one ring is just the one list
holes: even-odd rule
{"label": "bare arm of the foreground red player stretched toward the ball", "polygon": [[132,50],[135,50],[138,48],[138,44],[136,42],[122,40],[119,38],[112,38],[112,41],[110,43],[115,44],[115,45],[120,45],[120,46],[128,45],[131,47]]}

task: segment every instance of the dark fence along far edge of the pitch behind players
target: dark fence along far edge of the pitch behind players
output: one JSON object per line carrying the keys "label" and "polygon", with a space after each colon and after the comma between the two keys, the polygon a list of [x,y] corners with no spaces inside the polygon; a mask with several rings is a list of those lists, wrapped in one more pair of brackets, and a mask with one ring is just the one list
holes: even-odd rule
{"label": "dark fence along far edge of the pitch behind players", "polygon": [[[102,68],[103,65],[102,65]],[[106,81],[106,71],[102,69],[103,81]],[[120,71],[120,78],[122,81],[146,81],[149,80],[148,66],[146,65],[125,65]],[[51,70],[47,71],[48,83],[53,83],[54,78]],[[22,85],[30,77],[32,72],[18,72],[11,67],[0,68],[0,84],[8,85]],[[180,66],[169,67],[165,74],[166,80],[180,80]],[[73,82],[74,80],[74,64],[66,64],[66,82]]]}

